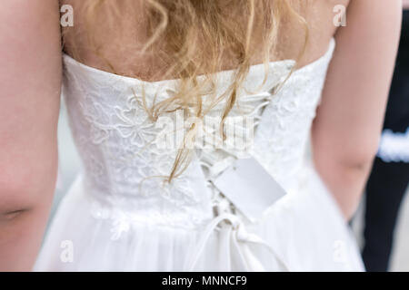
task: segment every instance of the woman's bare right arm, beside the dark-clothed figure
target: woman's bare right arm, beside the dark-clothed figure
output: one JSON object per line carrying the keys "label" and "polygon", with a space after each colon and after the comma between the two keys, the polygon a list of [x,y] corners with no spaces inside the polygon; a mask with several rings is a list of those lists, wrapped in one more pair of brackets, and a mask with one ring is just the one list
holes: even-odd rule
{"label": "woman's bare right arm, beside the dark-clothed figure", "polygon": [[399,40],[402,2],[352,0],[313,125],[314,164],[351,218],[384,121]]}

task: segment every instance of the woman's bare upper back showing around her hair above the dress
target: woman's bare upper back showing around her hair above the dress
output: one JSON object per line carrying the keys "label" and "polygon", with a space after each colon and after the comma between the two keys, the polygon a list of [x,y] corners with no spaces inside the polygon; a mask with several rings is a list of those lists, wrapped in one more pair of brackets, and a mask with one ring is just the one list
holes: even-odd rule
{"label": "woman's bare upper back showing around her hair above the dress", "polygon": [[[138,53],[139,49],[147,40],[146,36],[146,15],[142,8],[144,1],[122,1],[115,3],[117,10],[113,12],[112,6],[101,5],[95,7],[96,18],[92,30],[92,38],[98,46],[98,55],[95,55],[94,47],[87,37],[87,21],[89,21],[89,11],[87,10],[90,1],[65,0],[62,4],[72,5],[75,11],[75,25],[65,28],[65,52],[75,59],[80,59],[82,63],[89,66],[111,72],[112,67],[105,60],[113,64],[116,71],[126,76],[132,76],[145,81],[161,80],[160,75],[153,77],[153,74],[163,72],[166,69],[165,63],[161,63],[155,52],[152,57],[146,57]],[[91,1],[92,2],[92,1]],[[272,1],[273,2],[273,1]],[[308,41],[298,66],[311,63],[324,54],[330,39],[334,36],[338,25],[344,24],[343,15],[349,0],[342,1],[290,1],[294,9],[308,24]],[[304,3],[304,4],[303,4]],[[244,11],[236,11],[237,8],[244,7],[237,5],[234,1],[231,6],[224,8],[226,17],[234,18],[240,22],[244,19]],[[335,7],[336,5],[336,7]],[[236,7],[235,7],[236,6]],[[108,9],[110,7],[111,9]],[[344,10],[343,10],[344,9]],[[243,21],[242,21],[243,22]],[[296,18],[286,15],[284,23],[281,24],[278,35],[278,46],[270,57],[270,61],[284,59],[298,59],[299,54],[304,49],[305,27]],[[120,33],[118,33],[120,32]],[[261,41],[258,43],[260,49]],[[203,47],[197,50],[206,49]],[[77,50],[75,51],[75,47]],[[101,57],[102,56],[102,57]],[[254,55],[252,63],[263,63],[262,53]],[[223,70],[230,70],[236,67],[232,57],[224,57],[222,60]]]}

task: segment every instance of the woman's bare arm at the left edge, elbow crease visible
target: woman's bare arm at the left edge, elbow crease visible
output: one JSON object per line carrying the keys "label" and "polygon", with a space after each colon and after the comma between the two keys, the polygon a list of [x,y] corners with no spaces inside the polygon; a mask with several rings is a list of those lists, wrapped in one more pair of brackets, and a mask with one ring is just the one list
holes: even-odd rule
{"label": "woman's bare arm at the left edge, elbow crease visible", "polygon": [[0,271],[30,270],[55,189],[58,1],[2,0],[0,19]]}

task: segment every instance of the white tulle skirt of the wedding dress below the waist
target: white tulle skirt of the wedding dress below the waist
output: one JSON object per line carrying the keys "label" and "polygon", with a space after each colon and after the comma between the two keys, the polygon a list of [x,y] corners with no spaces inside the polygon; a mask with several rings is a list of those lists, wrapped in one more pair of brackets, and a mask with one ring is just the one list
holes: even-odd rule
{"label": "white tulle skirt of the wedding dress below the waist", "polygon": [[363,271],[352,232],[314,169],[305,180],[302,190],[274,203],[261,221],[246,224],[244,235],[227,226],[208,231],[141,220],[113,239],[111,221],[92,214],[93,198],[79,176],[34,270]]}

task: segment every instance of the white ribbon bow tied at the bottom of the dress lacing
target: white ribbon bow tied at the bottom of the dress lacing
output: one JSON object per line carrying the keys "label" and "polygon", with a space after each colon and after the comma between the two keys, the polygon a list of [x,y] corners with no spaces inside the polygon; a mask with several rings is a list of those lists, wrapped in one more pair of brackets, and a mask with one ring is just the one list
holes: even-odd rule
{"label": "white ribbon bow tied at the bottom of the dress lacing", "polygon": [[[228,223],[225,223],[225,221]],[[289,271],[289,267],[286,266],[284,261],[275,253],[273,247],[268,245],[261,237],[258,237],[253,233],[248,233],[244,227],[242,219],[231,213],[222,213],[221,215],[216,216],[205,227],[203,237],[200,238],[192,256],[187,259],[188,263],[185,266],[185,271],[195,270],[195,265],[200,256],[203,255],[209,237],[211,237],[218,225],[221,225],[219,229],[220,241],[222,241],[225,246],[225,256],[222,256],[220,263],[226,271],[231,271],[232,251],[235,251],[238,254],[240,268],[244,271],[266,271],[263,264],[248,247],[249,244],[259,245],[268,249],[280,266],[282,266],[283,270]]]}

